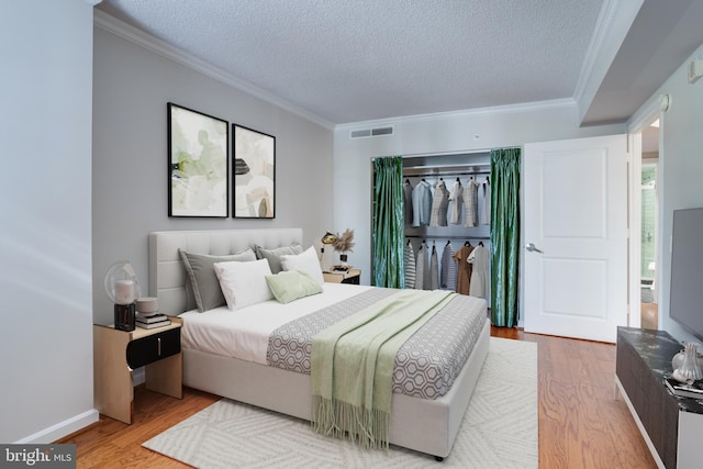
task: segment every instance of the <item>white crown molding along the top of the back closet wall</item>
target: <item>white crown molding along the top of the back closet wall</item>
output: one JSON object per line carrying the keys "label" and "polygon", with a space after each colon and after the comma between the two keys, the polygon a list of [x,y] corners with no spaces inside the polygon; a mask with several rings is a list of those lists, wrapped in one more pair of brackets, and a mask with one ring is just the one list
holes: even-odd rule
{"label": "white crown molding along the top of the back closet wall", "polygon": [[400,118],[376,119],[370,121],[349,122],[335,125],[335,131],[347,131],[358,127],[378,125],[402,125],[428,121],[446,121],[451,119],[471,118],[478,115],[514,114],[518,112],[535,112],[551,109],[576,109],[572,98],[535,101],[522,104],[494,105],[490,108],[465,109],[459,111],[434,112],[429,114],[405,115]]}

